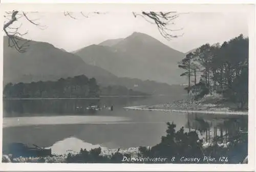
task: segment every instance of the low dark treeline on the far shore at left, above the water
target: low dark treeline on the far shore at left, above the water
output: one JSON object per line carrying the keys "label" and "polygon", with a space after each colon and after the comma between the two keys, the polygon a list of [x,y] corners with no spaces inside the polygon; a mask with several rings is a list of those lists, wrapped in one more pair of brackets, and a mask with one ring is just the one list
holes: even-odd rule
{"label": "low dark treeline on the far shore at left, above the water", "polygon": [[96,98],[100,95],[141,96],[146,95],[122,86],[100,87],[95,78],[85,75],[60,78],[57,81],[31,83],[8,83],[4,88],[5,98]]}

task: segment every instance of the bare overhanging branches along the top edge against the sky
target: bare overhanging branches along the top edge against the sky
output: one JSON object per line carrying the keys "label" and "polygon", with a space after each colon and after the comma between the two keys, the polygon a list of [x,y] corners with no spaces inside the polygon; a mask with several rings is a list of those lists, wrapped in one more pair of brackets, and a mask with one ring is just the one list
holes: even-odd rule
{"label": "bare overhanging branches along the top edge against the sky", "polygon": [[[37,13],[37,12],[31,12],[31,13]],[[69,16],[73,19],[77,19],[77,17],[75,17],[74,12],[66,11],[63,14],[65,16]],[[91,14],[104,14],[104,13],[91,12],[89,14],[84,14],[83,12],[79,12],[79,14],[82,15],[83,17],[89,17]],[[141,13],[133,12],[133,15],[135,17],[141,16],[145,20],[147,20],[147,22],[155,24],[157,26],[160,34],[167,40],[181,36],[181,35],[174,34],[174,32],[180,31],[181,29],[172,30],[172,29],[168,28],[169,25],[174,25],[173,20],[175,18],[179,17],[180,13],[142,11]],[[39,18],[31,19],[29,17],[29,13],[27,13],[27,12],[13,10],[11,12],[6,12],[6,15],[4,17],[6,18],[6,21],[4,23],[3,29],[4,29],[5,34],[8,36],[8,44],[10,47],[14,47],[20,53],[26,52],[26,49],[29,46],[29,44],[28,44],[29,40],[22,38],[24,35],[28,34],[28,32],[20,33],[19,28],[22,25],[20,25],[19,27],[12,27],[13,23],[15,23],[19,18],[24,17],[24,18],[26,18],[26,20],[28,20],[28,22],[30,24],[35,25],[40,29],[46,28],[46,26],[42,26],[40,23],[36,22]]]}

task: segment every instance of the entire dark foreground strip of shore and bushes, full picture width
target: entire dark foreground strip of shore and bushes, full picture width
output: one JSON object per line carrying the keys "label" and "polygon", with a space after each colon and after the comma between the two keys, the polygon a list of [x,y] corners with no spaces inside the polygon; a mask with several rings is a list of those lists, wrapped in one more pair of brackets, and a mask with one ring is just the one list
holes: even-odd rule
{"label": "entire dark foreground strip of shore and bushes, full picture width", "polygon": [[[243,162],[248,155],[248,135],[240,131],[232,134],[215,136],[211,144],[203,145],[196,131],[184,132],[184,128],[176,131],[174,123],[167,123],[166,136],[161,142],[151,148],[139,147],[139,152],[104,155],[101,148],[91,150],[82,149],[78,154],[67,156],[41,157],[33,160],[27,158],[19,161],[10,158],[11,162],[64,162],[64,163],[216,163],[237,164]],[[220,144],[222,143],[222,144]],[[223,144],[225,143],[225,144]],[[130,161],[127,161],[129,160]],[[187,159],[190,158],[190,159]],[[191,161],[192,159],[198,159]],[[7,162],[7,159],[3,159]]]}

